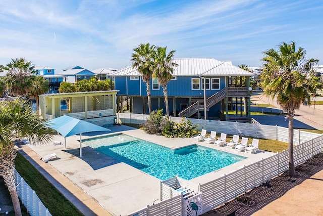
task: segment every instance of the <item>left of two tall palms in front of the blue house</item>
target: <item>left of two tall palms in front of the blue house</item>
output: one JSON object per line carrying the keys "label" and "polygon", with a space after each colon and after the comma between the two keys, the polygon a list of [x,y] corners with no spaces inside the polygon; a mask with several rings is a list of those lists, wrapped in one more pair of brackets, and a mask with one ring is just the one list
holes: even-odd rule
{"label": "left of two tall palms in front of the blue house", "polygon": [[153,63],[153,53],[156,47],[154,45],[140,44],[137,48],[134,48],[134,53],[131,55],[132,68],[136,68],[139,73],[142,74],[142,79],[146,82],[146,91],[148,97],[148,109],[151,113],[151,92],[150,92],[150,80],[153,71],[151,65]]}

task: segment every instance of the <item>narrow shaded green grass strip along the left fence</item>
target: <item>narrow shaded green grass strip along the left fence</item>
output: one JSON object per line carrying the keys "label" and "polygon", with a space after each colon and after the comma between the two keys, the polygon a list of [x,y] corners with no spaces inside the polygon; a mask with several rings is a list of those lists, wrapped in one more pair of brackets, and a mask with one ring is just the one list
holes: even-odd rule
{"label": "narrow shaded green grass strip along the left fence", "polygon": [[15,165],[19,174],[36,192],[39,199],[52,215],[83,215],[19,152],[15,160]]}

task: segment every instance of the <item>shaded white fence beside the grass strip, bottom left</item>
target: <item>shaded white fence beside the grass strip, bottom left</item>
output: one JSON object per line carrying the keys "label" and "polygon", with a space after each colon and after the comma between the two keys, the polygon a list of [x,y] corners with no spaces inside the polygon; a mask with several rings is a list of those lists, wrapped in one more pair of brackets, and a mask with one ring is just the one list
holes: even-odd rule
{"label": "shaded white fence beside the grass strip, bottom left", "polygon": [[[42,204],[39,197],[32,190],[31,187],[25,182],[25,180],[19,175],[19,173],[15,170],[16,175],[16,187],[18,197],[20,198],[22,204],[27,208],[27,211],[31,216],[51,216],[48,211],[48,208]],[[55,202],[55,200],[53,200]]]}

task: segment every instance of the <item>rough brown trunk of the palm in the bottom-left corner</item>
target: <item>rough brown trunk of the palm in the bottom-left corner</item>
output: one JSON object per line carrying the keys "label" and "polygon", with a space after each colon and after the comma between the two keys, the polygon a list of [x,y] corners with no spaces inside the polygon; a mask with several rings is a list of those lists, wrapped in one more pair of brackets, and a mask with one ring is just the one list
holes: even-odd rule
{"label": "rough brown trunk of the palm in the bottom-left corner", "polygon": [[[6,151],[4,149],[4,151]],[[15,215],[22,215],[20,209],[20,202],[17,194],[16,188],[16,177],[14,174],[15,170],[15,158],[17,156],[17,151],[13,146],[9,147],[7,152],[0,156],[0,175],[4,178],[5,184],[11,195],[12,204],[14,206]]]}

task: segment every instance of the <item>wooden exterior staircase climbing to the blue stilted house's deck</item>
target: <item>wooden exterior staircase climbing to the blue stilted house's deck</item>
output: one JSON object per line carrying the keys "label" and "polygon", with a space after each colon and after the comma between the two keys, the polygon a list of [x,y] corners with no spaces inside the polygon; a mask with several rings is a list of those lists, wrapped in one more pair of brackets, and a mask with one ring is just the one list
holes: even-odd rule
{"label": "wooden exterior staircase climbing to the blue stilted house's deck", "polygon": [[[222,99],[226,97],[226,89],[222,89],[220,92],[208,97],[206,99],[206,109],[212,107],[213,105],[219,103]],[[187,107],[186,109],[182,110],[178,116],[179,117],[190,117],[197,113],[197,111],[204,110],[204,101],[196,101],[191,106]]]}

